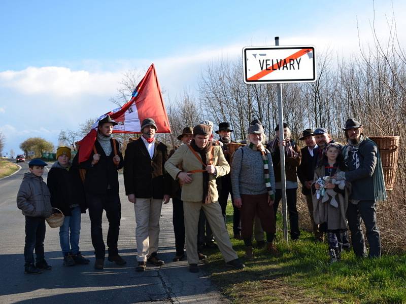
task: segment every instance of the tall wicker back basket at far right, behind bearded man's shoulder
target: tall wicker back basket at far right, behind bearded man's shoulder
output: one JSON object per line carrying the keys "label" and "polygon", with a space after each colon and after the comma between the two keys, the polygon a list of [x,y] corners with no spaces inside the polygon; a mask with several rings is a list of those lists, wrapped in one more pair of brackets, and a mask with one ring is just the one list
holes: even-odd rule
{"label": "tall wicker back basket at far right, behind bearded man's shoulder", "polygon": [[369,139],[378,145],[387,190],[393,190],[395,184],[399,138],[399,136],[369,136]]}

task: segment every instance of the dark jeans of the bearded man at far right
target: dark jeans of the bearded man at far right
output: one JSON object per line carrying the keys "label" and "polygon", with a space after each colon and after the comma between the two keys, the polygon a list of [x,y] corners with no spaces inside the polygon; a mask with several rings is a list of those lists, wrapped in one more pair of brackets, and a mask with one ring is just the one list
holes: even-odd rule
{"label": "dark jeans of the bearded man at far right", "polygon": [[369,243],[369,257],[381,256],[381,237],[377,225],[377,204],[374,201],[351,202],[347,208],[348,226],[351,230],[351,242],[357,257],[366,255],[365,239],[361,228],[361,219],[366,227],[366,238]]}

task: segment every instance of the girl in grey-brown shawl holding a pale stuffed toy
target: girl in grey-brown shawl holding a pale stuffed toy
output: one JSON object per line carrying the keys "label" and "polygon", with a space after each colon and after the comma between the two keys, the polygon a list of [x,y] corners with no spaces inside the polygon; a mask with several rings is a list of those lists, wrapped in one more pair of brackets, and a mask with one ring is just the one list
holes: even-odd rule
{"label": "girl in grey-brown shawl holding a pale stuffed toy", "polygon": [[340,171],[346,171],[341,147],[330,143],[316,167],[312,193],[314,220],[320,224],[320,231],[327,233],[331,263],[341,259],[336,234],[347,231],[346,211],[351,184],[334,179]]}

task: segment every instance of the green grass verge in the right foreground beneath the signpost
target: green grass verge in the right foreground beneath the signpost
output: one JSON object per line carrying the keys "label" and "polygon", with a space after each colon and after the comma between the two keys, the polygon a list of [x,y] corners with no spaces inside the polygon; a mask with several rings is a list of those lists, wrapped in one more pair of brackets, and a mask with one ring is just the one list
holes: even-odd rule
{"label": "green grass verge in the right foreground beneath the signpost", "polygon": [[[235,303],[406,303],[406,254],[357,259],[353,252],[343,252],[342,260],[330,265],[326,243],[315,243],[302,232],[299,241],[287,245],[282,235],[278,222],[278,256],[254,249],[255,259],[244,261],[244,271],[229,271],[218,250],[208,250],[205,269]],[[243,241],[231,242],[244,256]]]}

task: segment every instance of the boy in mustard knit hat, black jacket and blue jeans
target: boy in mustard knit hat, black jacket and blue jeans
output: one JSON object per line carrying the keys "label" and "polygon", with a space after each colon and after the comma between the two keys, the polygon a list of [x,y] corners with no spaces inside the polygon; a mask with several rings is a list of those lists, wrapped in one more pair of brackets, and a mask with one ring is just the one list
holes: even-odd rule
{"label": "boy in mustard knit hat, black jacket and blue jeans", "polygon": [[65,215],[59,228],[59,242],[63,265],[88,264],[90,261],[79,251],[81,213],[86,212],[85,193],[77,169],[72,168],[71,149],[61,146],[56,150],[57,161],[48,173],[48,188],[52,207]]}

